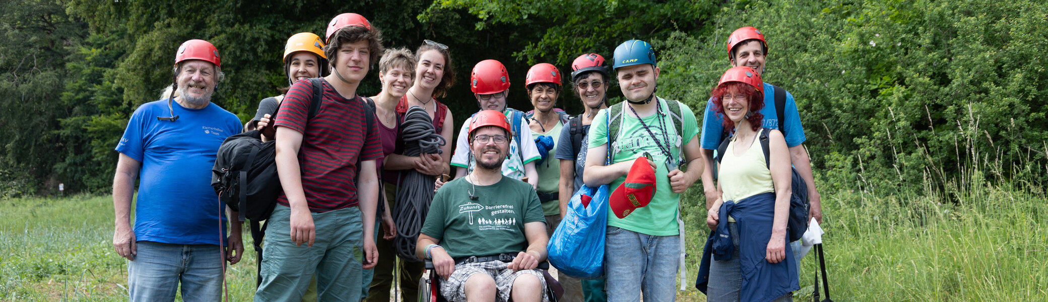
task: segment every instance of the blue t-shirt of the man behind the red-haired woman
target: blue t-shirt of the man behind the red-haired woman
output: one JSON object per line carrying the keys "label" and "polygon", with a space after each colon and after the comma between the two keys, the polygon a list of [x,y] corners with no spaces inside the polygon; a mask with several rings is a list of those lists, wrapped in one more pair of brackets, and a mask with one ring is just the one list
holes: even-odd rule
{"label": "blue t-shirt of the man behind the red-haired woman", "polygon": [[[764,114],[764,127],[770,129],[779,129],[779,108],[776,108],[776,93],[774,86],[768,83],[764,83],[764,109],[761,109],[761,113]],[[783,123],[786,134],[786,146],[793,147],[804,143],[804,127],[801,126],[801,114],[798,113],[796,103],[793,102],[793,94],[786,91],[786,105],[785,114],[783,118],[786,120]],[[702,118],[702,149],[717,150],[720,147],[721,135],[724,132],[724,124],[722,124],[722,117],[714,111],[713,102],[706,102],[706,112],[705,116]],[[780,129],[783,130],[783,129]]]}

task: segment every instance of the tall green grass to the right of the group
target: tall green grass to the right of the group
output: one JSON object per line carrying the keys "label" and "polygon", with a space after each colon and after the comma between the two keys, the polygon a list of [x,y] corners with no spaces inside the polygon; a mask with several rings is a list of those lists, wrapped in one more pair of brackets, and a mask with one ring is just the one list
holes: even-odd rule
{"label": "tall green grass to the right of the group", "polygon": [[[994,144],[978,118],[957,123],[957,175],[929,156],[924,177],[907,179],[921,190],[874,190],[860,166],[854,190],[821,192],[834,301],[1048,301],[1048,196],[1031,180],[1046,170],[1045,153],[1004,167],[1001,152],[976,151]],[[708,232],[697,192],[685,195],[698,201],[685,201],[695,271]],[[817,269],[814,254],[804,258],[794,300],[811,300]],[[705,301],[694,289],[678,298]]]}

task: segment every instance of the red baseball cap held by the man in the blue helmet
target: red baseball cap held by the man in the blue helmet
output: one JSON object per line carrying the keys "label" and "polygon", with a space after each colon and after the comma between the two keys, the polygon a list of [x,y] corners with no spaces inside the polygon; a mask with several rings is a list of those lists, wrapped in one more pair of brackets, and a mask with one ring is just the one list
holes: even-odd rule
{"label": "red baseball cap held by the man in the blue helmet", "polygon": [[654,195],[655,170],[648,164],[648,157],[640,156],[633,160],[630,173],[626,174],[626,181],[611,193],[608,203],[615,216],[626,218],[633,210],[648,206]]}

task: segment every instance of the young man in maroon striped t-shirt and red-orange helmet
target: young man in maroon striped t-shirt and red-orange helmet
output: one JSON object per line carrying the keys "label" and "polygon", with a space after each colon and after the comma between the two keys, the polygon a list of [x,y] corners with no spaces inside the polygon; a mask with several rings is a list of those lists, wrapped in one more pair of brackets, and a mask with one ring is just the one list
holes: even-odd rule
{"label": "young man in maroon striped t-shirt and red-orange helmet", "polygon": [[300,300],[314,273],[319,301],[359,301],[363,269],[378,260],[372,232],[381,141],[356,88],[384,50],[381,34],[364,17],[343,14],[329,24],[327,42],[332,74],[321,79],[316,115],[305,123],[313,87],[301,81],[275,122],[284,190],[266,222],[255,301]]}

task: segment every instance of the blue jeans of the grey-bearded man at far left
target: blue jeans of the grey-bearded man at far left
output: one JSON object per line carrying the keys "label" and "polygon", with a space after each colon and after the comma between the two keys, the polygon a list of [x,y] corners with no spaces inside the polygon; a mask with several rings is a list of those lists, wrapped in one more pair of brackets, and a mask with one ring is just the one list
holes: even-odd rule
{"label": "blue jeans of the grey-bearded man at far left", "polygon": [[138,254],[128,261],[131,301],[175,301],[178,283],[182,300],[222,299],[222,255],[215,244],[170,244],[138,241]]}

